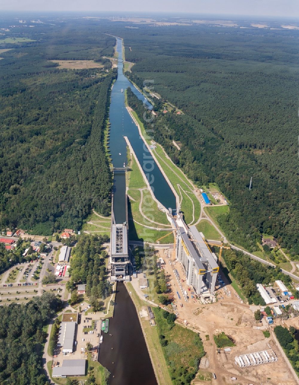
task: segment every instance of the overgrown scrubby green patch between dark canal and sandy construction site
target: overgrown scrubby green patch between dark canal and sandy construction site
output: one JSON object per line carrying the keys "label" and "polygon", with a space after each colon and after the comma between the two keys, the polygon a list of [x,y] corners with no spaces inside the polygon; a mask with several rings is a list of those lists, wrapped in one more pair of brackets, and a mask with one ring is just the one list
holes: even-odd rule
{"label": "overgrown scrubby green patch between dark canal and sandy construction site", "polygon": [[175,383],[190,383],[205,355],[202,340],[194,331],[166,320],[163,309],[153,308],[153,312],[171,378]]}

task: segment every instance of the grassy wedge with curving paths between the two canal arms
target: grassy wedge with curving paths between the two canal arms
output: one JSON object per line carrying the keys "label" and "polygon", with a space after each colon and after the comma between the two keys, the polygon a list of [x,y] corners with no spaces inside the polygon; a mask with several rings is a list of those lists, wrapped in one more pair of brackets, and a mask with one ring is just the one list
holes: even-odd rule
{"label": "grassy wedge with curving paths between the two canal arms", "polygon": [[[161,239],[163,243],[172,243],[174,238],[171,231],[159,231],[144,227],[144,225],[146,225],[154,228],[171,228],[171,225],[166,217],[166,214],[158,209],[158,204],[148,191],[143,175],[141,174],[138,164],[133,156],[130,168],[131,171],[129,171],[127,175],[127,186],[129,187],[128,196],[130,200],[128,213],[129,239],[138,241],[150,238],[155,242],[164,237]],[[139,209],[139,203],[141,201],[141,191],[139,189],[142,189],[143,195],[141,211]],[[134,222],[133,219],[138,223]]]}

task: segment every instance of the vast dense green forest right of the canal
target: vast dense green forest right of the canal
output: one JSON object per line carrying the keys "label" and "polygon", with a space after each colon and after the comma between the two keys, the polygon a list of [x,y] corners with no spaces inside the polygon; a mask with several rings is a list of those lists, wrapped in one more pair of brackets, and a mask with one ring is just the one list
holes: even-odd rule
{"label": "vast dense green forest right of the canal", "polygon": [[[118,28],[126,60],[134,63],[128,77],[141,88],[152,79],[151,91],[183,111],[160,109],[154,138],[193,181],[218,183],[231,204],[219,218],[228,238],[255,251],[261,233],[268,233],[296,258],[299,32]],[[131,96],[142,118],[144,107]]]}

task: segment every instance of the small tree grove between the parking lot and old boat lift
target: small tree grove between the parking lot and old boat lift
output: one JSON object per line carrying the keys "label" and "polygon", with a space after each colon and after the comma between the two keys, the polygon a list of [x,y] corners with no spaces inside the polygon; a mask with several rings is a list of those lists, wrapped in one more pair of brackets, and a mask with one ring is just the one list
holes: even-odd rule
{"label": "small tree grove between the parking lot and old boat lift", "polygon": [[102,249],[107,236],[82,235],[72,249],[71,279],[67,283],[69,290],[76,291],[78,283],[86,283],[86,295],[95,310],[99,310],[98,298],[105,299],[112,293],[107,280],[105,258],[108,254]]}

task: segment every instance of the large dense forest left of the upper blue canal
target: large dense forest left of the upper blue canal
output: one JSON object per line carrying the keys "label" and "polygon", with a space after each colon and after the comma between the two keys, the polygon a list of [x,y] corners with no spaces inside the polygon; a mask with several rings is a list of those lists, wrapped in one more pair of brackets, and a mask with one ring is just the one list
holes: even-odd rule
{"label": "large dense forest left of the upper blue canal", "polygon": [[[113,54],[115,39],[86,22],[35,27],[27,33],[35,42],[0,44],[13,48],[0,60],[0,227],[48,235],[81,228],[91,208],[110,211],[102,139],[116,72],[102,56]],[[58,69],[49,59],[104,67]]]}

